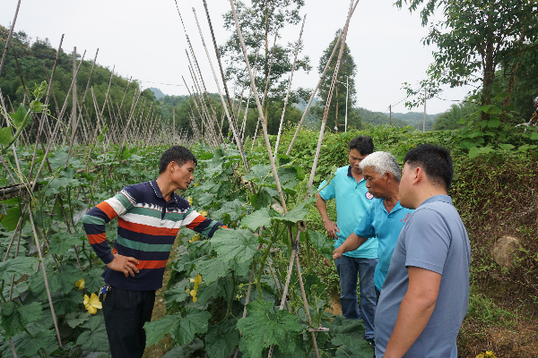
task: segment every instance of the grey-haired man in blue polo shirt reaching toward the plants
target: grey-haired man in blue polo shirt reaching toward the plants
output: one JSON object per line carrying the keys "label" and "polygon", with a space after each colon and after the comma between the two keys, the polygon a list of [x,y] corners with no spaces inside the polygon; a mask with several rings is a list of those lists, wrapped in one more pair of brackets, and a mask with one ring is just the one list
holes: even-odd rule
{"label": "grey-haired man in blue polo shirt reaching toward the plants", "polygon": [[356,250],[376,240],[378,243],[376,272],[374,284],[377,300],[386,273],[395,251],[398,235],[402,231],[413,210],[400,205],[400,166],[396,158],[386,151],[377,151],[360,162],[362,174],[366,179],[366,187],[376,199],[369,206],[360,224],[349,235],[345,242],[334,250],[336,259],[344,252]]}

